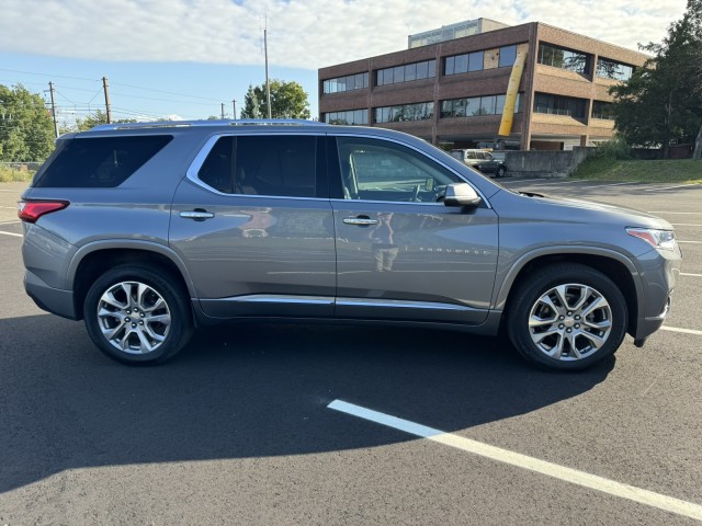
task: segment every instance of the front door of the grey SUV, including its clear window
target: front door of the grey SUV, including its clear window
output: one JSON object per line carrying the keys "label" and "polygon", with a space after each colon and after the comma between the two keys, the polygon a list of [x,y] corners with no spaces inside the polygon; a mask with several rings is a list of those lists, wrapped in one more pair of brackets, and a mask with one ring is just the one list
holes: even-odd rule
{"label": "front door of the grey SUV, including its clear window", "polygon": [[[479,324],[497,265],[497,216],[437,199],[460,178],[408,147],[338,138],[332,198],[342,318]],[[342,198],[341,198],[342,197]]]}

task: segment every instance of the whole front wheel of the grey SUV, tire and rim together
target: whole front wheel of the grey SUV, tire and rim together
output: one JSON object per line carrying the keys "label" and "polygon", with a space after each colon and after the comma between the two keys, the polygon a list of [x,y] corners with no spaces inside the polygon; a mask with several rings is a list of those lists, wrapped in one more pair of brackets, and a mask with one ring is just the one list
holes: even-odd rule
{"label": "whole front wheel of the grey SUV, tire and rim together", "polygon": [[510,296],[509,338],[541,367],[586,369],[614,354],[626,334],[624,296],[609,277],[586,265],[548,265],[525,276]]}

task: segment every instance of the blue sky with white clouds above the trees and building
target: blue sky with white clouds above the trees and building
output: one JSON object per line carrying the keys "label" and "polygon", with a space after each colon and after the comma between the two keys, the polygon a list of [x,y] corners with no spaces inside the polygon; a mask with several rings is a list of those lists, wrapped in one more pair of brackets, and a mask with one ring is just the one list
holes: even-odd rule
{"label": "blue sky with white clouds above the trees and building", "polygon": [[[407,48],[407,36],[487,18],[543,22],[637,49],[660,42],[686,0],[2,0],[0,84],[23,84],[59,122],[226,118],[249,85],[296,81],[318,114],[318,68]],[[236,101],[234,103],[233,101]]]}

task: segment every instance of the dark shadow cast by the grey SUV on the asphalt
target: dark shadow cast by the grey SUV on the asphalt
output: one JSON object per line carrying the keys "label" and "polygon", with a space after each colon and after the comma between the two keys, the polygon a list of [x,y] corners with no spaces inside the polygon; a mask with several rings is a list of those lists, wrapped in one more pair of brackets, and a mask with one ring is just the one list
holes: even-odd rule
{"label": "dark shadow cast by the grey SUV on the asphalt", "polygon": [[81,323],[0,320],[0,492],[77,468],[303,455],[416,439],[327,409],[335,399],[446,432],[577,397],[501,339],[355,325],[226,324],[172,362],[126,367]]}

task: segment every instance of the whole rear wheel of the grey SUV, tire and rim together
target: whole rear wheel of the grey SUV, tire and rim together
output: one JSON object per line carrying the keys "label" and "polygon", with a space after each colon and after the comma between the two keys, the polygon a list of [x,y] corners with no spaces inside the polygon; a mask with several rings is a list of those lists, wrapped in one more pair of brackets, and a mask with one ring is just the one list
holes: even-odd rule
{"label": "whole rear wheel of the grey SUV, tire and rim together", "polygon": [[193,331],[183,287],[165,270],[139,265],[116,266],[100,276],[86,295],[83,317],[95,346],[128,365],[166,362]]}

